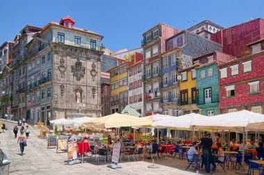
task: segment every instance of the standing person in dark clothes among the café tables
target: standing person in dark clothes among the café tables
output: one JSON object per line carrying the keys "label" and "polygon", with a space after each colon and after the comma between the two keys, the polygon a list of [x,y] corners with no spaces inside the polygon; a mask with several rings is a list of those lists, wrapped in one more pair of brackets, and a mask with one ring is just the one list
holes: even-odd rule
{"label": "standing person in dark clothes among the caf\u00e9 tables", "polygon": [[209,138],[209,134],[206,133],[204,138],[201,138],[201,148],[203,149],[203,162],[206,168],[206,174],[211,174],[211,158],[212,158],[212,150],[211,147],[213,145],[213,140]]}

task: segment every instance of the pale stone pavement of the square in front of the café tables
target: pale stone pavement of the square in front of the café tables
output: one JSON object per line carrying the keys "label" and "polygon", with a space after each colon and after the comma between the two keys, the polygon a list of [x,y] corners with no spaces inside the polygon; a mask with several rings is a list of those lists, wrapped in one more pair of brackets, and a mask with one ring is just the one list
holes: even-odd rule
{"label": "pale stone pavement of the square in front of the caf\u00e9 tables", "polygon": [[[197,174],[196,172],[183,169],[187,166],[185,160],[177,158],[165,158],[156,160],[157,169],[148,168],[151,165],[151,160],[144,161],[123,161],[121,169],[110,169],[106,167],[108,163],[100,163],[94,158],[85,158],[83,164],[65,165],[67,160],[66,153],[56,153],[56,149],[47,149],[47,140],[37,138],[38,130],[31,128],[30,136],[27,140],[28,146],[25,147],[24,156],[19,155],[19,145],[14,138],[13,127],[14,123],[6,122],[8,130],[6,133],[0,133],[0,148],[11,159],[10,175],[17,174]],[[104,160],[101,160],[104,162]],[[204,169],[201,169],[199,174],[204,174]],[[222,169],[218,168],[214,174],[224,174]],[[235,174],[234,171],[228,170],[226,174]]]}

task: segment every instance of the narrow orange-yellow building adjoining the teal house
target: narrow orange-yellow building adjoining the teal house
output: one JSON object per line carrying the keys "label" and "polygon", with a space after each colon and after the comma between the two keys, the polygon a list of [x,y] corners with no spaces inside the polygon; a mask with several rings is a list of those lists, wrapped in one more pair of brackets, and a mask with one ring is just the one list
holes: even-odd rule
{"label": "narrow orange-yellow building adjoining the teal house", "polygon": [[187,113],[199,113],[199,108],[197,107],[197,89],[196,89],[196,71],[195,67],[199,65],[195,64],[185,68],[179,73],[181,74],[181,81],[179,84],[180,88],[180,98],[179,107],[182,111],[180,115]]}

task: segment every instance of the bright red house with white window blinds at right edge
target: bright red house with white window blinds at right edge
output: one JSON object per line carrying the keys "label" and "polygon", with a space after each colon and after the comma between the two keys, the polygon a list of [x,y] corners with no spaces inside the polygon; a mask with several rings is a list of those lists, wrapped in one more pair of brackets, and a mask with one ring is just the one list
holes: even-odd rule
{"label": "bright red house with white window blinds at right edge", "polygon": [[264,39],[248,46],[250,55],[219,66],[221,113],[264,113]]}

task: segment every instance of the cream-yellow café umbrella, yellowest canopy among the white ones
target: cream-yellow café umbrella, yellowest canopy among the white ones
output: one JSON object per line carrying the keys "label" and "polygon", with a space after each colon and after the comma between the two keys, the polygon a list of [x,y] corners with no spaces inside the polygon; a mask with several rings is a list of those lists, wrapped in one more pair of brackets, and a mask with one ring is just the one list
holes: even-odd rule
{"label": "cream-yellow caf\u00e9 umbrella, yellowest canopy among the white ones", "polygon": [[96,118],[83,123],[84,127],[112,128],[112,127],[150,127],[152,121],[146,118],[137,118],[120,113],[113,113],[108,116]]}

